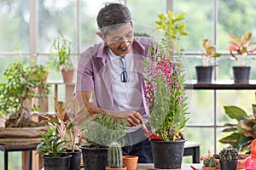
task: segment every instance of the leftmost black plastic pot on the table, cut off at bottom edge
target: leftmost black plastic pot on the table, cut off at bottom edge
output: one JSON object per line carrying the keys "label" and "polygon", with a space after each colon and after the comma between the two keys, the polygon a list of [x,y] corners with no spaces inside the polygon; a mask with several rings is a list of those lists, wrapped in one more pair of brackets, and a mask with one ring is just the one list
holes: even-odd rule
{"label": "leftmost black plastic pot on the table, cut off at bottom edge", "polygon": [[71,156],[61,156],[61,157],[50,157],[42,156],[44,161],[44,170],[69,170]]}

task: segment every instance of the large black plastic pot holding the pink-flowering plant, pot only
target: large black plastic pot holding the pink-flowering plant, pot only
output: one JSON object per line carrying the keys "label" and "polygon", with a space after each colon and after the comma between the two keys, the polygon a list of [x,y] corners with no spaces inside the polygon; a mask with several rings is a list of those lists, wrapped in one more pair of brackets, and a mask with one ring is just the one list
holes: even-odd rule
{"label": "large black plastic pot holding the pink-flowering plant, pot only", "polygon": [[185,140],[178,140],[173,142],[151,140],[154,168],[181,168],[184,144]]}

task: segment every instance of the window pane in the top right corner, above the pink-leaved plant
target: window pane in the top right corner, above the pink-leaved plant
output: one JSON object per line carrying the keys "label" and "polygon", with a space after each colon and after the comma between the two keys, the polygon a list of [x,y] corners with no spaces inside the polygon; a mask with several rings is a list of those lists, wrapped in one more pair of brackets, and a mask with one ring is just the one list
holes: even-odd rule
{"label": "window pane in the top right corner, above the pink-leaved plant", "polygon": [[253,32],[256,40],[256,1],[218,1],[218,48],[227,51],[229,33],[241,37],[245,31]]}

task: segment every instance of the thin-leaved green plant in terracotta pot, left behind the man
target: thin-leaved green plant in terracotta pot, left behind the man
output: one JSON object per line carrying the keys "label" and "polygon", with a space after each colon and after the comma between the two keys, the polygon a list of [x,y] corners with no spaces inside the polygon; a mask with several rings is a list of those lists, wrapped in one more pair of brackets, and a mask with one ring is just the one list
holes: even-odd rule
{"label": "thin-leaved green plant in terracotta pot, left behind the man", "polygon": [[59,36],[55,38],[50,47],[50,54],[57,56],[54,59],[56,71],[61,71],[64,82],[73,82],[73,63],[70,58],[71,42],[58,31]]}

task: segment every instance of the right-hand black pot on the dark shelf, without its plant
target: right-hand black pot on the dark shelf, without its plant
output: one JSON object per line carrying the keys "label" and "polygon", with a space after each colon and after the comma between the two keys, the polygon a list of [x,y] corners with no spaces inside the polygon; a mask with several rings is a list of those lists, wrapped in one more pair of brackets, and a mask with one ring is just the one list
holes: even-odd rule
{"label": "right-hand black pot on the dark shelf, without its plant", "polygon": [[250,80],[250,66],[233,66],[233,76],[235,83],[248,83]]}

